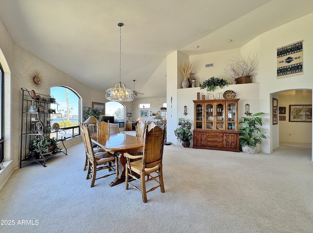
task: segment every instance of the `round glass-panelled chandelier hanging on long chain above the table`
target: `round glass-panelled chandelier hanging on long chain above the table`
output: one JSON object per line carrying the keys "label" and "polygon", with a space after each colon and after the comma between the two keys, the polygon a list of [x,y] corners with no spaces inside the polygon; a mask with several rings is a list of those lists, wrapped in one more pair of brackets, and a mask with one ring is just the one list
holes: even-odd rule
{"label": "round glass-panelled chandelier hanging on long chain above the table", "polygon": [[106,98],[111,101],[132,101],[134,99],[133,91],[121,82],[121,27],[123,23],[120,22],[117,25],[119,26],[119,82],[106,91]]}

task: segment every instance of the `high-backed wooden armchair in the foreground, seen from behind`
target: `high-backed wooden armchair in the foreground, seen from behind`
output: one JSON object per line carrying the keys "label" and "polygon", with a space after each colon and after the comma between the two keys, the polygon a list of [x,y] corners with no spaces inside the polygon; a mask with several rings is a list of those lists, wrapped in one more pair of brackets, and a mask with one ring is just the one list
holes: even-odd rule
{"label": "high-backed wooden armchair in the foreground, seen from behind", "polygon": [[[141,192],[142,201],[147,202],[147,193],[160,187],[161,193],[164,193],[163,173],[162,173],[162,156],[164,147],[164,131],[156,126],[148,131],[145,129],[143,154],[130,155],[124,153],[126,157],[126,190],[131,185],[134,189]],[[140,181],[140,188],[131,182]],[[146,182],[156,181],[157,186],[146,191]]]}

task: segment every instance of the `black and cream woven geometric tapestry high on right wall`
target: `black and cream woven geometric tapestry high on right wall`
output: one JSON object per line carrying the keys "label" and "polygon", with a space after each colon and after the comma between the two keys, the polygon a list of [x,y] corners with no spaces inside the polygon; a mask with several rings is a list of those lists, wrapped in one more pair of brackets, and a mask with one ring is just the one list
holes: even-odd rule
{"label": "black and cream woven geometric tapestry high on right wall", "polygon": [[303,75],[303,40],[277,48],[277,78]]}

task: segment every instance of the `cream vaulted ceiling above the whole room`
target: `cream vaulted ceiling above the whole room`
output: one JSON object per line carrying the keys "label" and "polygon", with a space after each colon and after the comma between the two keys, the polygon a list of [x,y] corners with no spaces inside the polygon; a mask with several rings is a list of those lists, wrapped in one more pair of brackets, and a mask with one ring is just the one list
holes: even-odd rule
{"label": "cream vaulted ceiling above the whole room", "polygon": [[124,23],[121,81],[134,90],[135,79],[138,97],[166,96],[166,56],[176,50],[239,48],[311,12],[312,0],[0,0],[17,45],[99,91],[119,81]]}

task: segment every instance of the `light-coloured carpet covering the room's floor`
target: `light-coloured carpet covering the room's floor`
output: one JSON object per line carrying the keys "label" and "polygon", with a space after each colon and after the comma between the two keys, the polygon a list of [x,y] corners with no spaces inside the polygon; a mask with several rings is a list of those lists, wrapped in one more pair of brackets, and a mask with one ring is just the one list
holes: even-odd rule
{"label": "light-coloured carpet covering the room's floor", "polygon": [[46,168],[34,163],[15,171],[0,191],[1,223],[15,225],[0,225],[0,232],[313,232],[311,148],[248,155],[165,146],[165,193],[148,193],[147,203],[124,183],[110,187],[113,176],[90,188],[84,153],[77,144]]}

